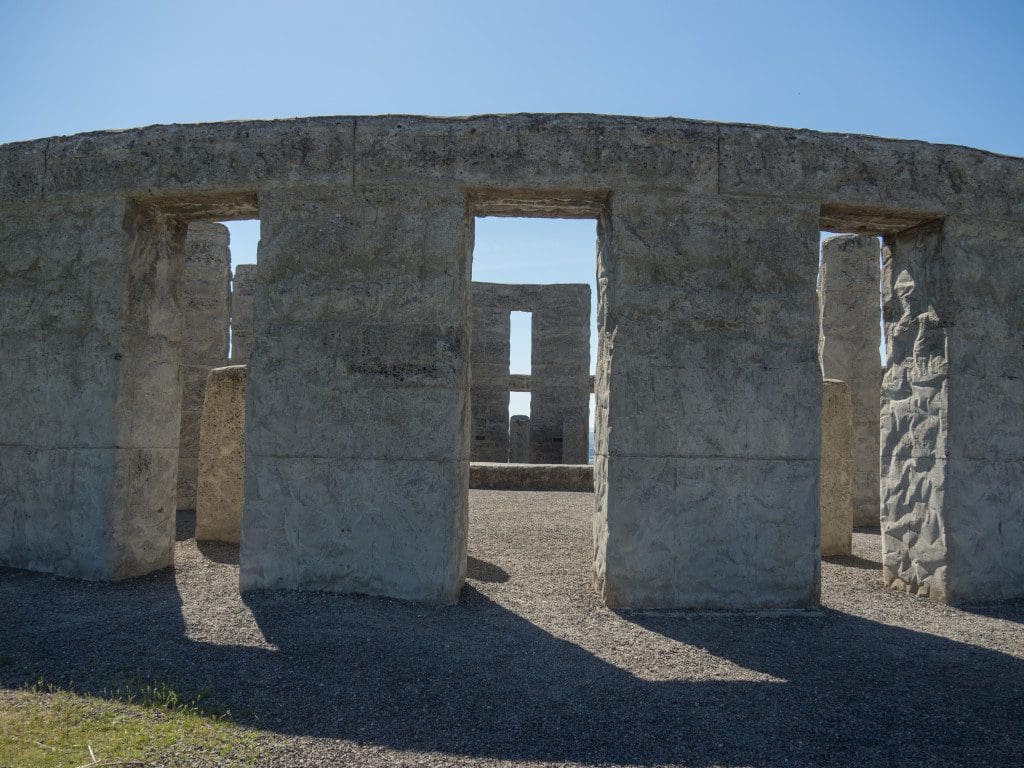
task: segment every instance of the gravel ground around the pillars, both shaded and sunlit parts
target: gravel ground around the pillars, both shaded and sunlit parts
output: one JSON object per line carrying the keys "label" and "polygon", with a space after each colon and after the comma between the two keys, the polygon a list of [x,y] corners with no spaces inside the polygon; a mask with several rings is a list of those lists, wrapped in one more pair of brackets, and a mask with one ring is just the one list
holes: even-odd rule
{"label": "gravel ground around the pillars, both shaded and sunlit parts", "polygon": [[238,549],[187,516],[173,572],[0,569],[0,685],[209,689],[267,765],[1024,765],[1024,602],[886,592],[865,531],[824,563],[820,611],[620,614],[589,586],[592,508],[472,492],[447,607],[240,596]]}

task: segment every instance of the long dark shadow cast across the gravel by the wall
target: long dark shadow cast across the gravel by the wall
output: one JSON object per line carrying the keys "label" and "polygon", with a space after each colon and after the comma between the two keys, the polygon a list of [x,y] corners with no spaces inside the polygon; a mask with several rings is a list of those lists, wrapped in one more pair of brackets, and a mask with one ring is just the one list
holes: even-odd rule
{"label": "long dark shadow cast across the gravel by the wall", "polygon": [[[94,585],[0,569],[0,683],[211,688],[232,719],[460,757],[652,765],[1019,765],[1024,663],[825,610],[625,621],[778,680],[641,680],[467,587],[426,607],[246,597],[276,650],[185,636],[169,573]],[[73,618],[72,618],[73,617]]]}

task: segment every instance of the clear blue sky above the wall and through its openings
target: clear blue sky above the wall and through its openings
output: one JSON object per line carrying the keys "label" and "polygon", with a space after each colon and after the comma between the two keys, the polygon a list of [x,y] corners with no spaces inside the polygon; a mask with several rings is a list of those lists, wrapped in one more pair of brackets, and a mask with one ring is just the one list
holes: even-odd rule
{"label": "clear blue sky above the wall and through its openings", "polygon": [[[0,142],[487,112],[668,115],[1024,156],[1024,1],[0,0]],[[234,227],[238,260],[253,260],[255,237]],[[477,242],[480,279],[593,280],[590,222],[487,219]]]}

